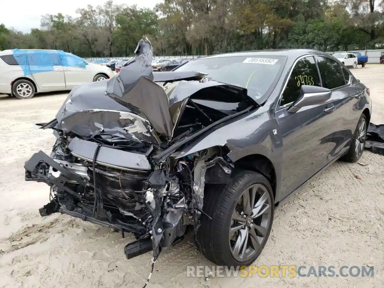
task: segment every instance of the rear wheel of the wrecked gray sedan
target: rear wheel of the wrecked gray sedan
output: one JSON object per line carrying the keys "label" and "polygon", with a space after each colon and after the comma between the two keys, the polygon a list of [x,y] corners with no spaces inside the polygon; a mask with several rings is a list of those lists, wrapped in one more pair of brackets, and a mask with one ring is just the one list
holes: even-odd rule
{"label": "rear wheel of the wrecked gray sedan", "polygon": [[351,142],[351,146],[349,147],[348,153],[343,157],[344,161],[347,162],[358,162],[361,158],[362,153],[365,148],[365,141],[367,138],[367,118],[364,114],[361,114],[358,125],[356,127],[356,131],[353,134],[353,139]]}

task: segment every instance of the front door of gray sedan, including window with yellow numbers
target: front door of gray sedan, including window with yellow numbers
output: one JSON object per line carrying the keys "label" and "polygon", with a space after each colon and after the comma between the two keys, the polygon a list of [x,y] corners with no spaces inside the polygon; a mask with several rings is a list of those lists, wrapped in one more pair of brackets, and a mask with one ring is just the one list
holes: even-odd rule
{"label": "front door of gray sedan, including window with yellow numbers", "polygon": [[[281,94],[275,117],[283,137],[282,189],[287,196],[327,163],[334,148],[333,117],[330,103],[303,107],[296,113],[287,110],[300,96],[301,85],[321,86],[314,56],[296,60]],[[279,133],[279,132],[278,132]]]}

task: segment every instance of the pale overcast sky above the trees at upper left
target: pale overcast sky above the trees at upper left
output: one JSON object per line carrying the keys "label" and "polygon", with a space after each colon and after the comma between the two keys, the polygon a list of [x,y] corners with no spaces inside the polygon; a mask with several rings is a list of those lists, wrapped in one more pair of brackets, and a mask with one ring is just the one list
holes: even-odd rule
{"label": "pale overcast sky above the trees at upper left", "polygon": [[[7,1],[6,1],[7,2]],[[13,5],[2,5],[0,8],[0,24],[7,28],[28,33],[31,28],[40,28],[41,15],[63,13],[76,16],[77,8],[85,8],[88,4],[93,6],[102,5],[106,0],[19,0]],[[125,3],[127,5],[137,4],[138,7],[152,8],[162,0],[114,0],[115,4]]]}

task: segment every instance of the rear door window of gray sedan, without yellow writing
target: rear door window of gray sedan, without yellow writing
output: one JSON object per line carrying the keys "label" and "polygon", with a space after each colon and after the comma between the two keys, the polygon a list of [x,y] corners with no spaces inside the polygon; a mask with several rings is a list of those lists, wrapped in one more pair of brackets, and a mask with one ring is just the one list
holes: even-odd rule
{"label": "rear door window of gray sedan, without yellow writing", "polygon": [[321,56],[316,56],[316,60],[323,87],[334,89],[345,85],[343,71],[341,71],[341,66],[336,61]]}

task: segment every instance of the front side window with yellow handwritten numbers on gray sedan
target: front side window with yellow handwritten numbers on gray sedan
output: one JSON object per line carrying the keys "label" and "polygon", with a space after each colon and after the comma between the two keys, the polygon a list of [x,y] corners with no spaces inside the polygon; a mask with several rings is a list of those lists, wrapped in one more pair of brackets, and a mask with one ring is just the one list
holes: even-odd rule
{"label": "front side window with yellow handwritten numbers on gray sedan", "polygon": [[280,106],[294,102],[300,96],[301,85],[321,86],[313,56],[299,60],[284,89]]}

